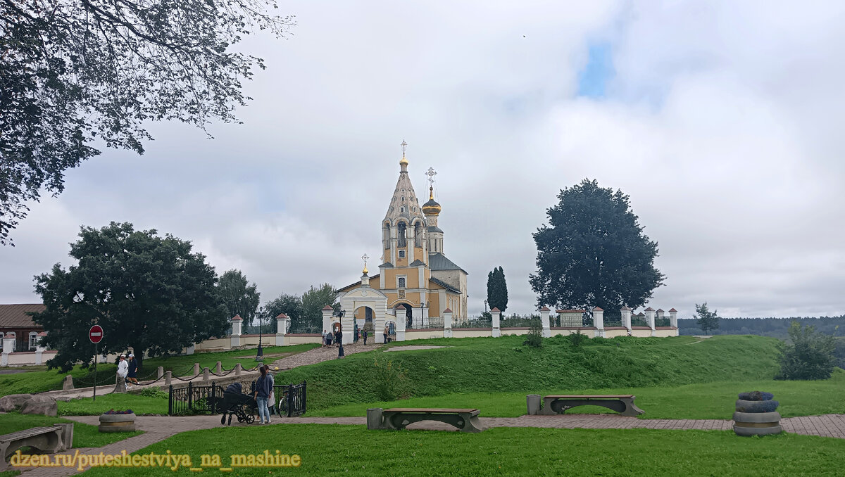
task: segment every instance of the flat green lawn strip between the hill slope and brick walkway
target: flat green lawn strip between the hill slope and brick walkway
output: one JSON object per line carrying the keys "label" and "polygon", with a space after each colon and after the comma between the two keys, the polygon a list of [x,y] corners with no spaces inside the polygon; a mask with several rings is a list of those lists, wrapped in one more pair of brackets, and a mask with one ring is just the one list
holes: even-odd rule
{"label": "flat green lawn strip between the hill slope and brick walkway", "polygon": [[[368,408],[477,408],[487,417],[526,414],[526,394],[634,394],[635,404],[646,411],[643,419],[731,419],[737,394],[744,391],[774,393],[783,417],[845,413],[845,371],[837,370],[825,381],[705,382],[673,388],[602,388],[532,390],[523,393],[466,393],[425,396],[366,404],[344,404],[309,410],[311,416],[362,416]],[[613,413],[599,406],[570,409],[567,414]]]}

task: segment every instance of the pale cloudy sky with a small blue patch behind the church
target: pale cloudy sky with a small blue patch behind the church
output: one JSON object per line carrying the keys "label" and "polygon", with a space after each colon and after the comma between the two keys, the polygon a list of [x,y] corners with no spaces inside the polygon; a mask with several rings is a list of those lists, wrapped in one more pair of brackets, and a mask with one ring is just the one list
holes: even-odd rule
{"label": "pale cloudy sky with a small blue patch behind the church", "polygon": [[70,263],[80,225],[193,241],[269,301],[347,285],[379,257],[408,143],[420,197],[438,171],[445,252],[470,312],[502,266],[530,312],[532,232],[585,177],[630,195],[667,275],[650,305],[690,317],[845,313],[845,3],[297,0],[287,40],[245,51],[243,124],[150,127],[31,204],[0,247],[0,303]]}

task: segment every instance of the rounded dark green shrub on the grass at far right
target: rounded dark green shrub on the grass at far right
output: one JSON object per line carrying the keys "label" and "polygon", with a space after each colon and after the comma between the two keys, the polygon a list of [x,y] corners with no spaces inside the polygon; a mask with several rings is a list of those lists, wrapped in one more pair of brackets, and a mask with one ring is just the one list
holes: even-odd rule
{"label": "rounded dark green shrub on the grass at far right", "polygon": [[789,325],[791,343],[781,343],[781,371],[776,379],[827,379],[836,366],[836,340],[817,333],[815,327],[793,322]]}

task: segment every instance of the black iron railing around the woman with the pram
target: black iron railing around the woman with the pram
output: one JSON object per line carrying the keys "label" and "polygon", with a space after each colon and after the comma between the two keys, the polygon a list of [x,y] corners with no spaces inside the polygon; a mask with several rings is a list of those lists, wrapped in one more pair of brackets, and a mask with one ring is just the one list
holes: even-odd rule
{"label": "black iron railing around the woman with the pram", "polygon": [[[252,394],[255,381],[242,382],[244,390],[250,390]],[[275,384],[276,413],[293,417],[303,415],[306,410],[306,386],[305,382],[299,384]],[[167,398],[167,415],[215,415],[221,413],[223,400],[223,387],[215,382],[208,385],[194,385],[188,382],[185,388],[169,388]]]}

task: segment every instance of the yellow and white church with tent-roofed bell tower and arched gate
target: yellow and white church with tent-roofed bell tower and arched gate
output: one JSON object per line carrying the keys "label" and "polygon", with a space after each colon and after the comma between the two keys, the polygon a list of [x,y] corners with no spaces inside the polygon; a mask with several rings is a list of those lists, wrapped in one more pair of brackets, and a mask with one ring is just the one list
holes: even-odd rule
{"label": "yellow and white church with tent-roofed bell tower and arched gate", "polygon": [[[361,281],[337,290],[344,312],[351,313],[350,324],[354,317],[358,328],[374,329],[379,342],[384,326],[395,329],[396,339],[404,339],[406,329],[442,328],[446,310],[456,321],[466,319],[466,271],[444,254],[444,231],[438,227],[442,209],[434,201],[433,185],[428,202],[419,204],[405,145],[399,180],[381,220],[379,274],[370,277],[365,262]],[[435,174],[433,169],[427,172],[432,184]]]}

